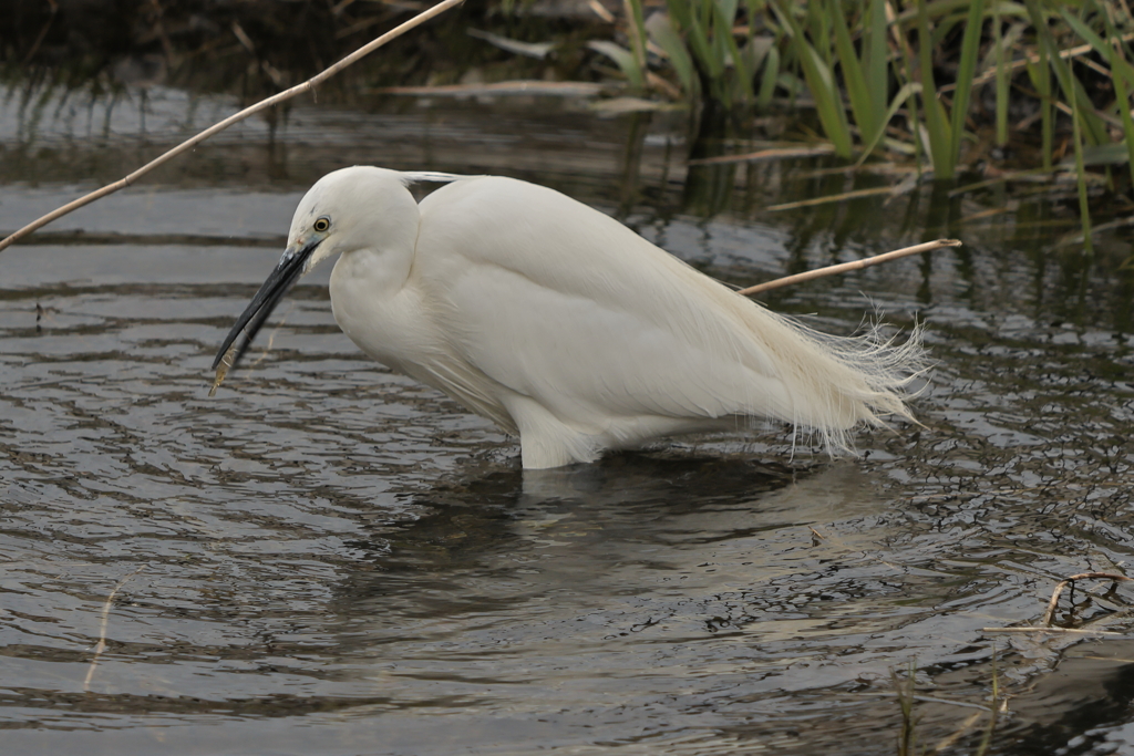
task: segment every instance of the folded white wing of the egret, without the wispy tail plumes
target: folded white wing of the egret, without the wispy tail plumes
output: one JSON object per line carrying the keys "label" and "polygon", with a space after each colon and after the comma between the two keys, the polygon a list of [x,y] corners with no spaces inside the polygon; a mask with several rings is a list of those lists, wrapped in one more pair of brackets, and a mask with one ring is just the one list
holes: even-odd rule
{"label": "folded white wing of the egret, without the wispy tail plumes", "polygon": [[499,177],[421,207],[415,278],[454,350],[509,390],[596,431],[642,415],[794,419],[752,330],[759,305],[617,221]]}

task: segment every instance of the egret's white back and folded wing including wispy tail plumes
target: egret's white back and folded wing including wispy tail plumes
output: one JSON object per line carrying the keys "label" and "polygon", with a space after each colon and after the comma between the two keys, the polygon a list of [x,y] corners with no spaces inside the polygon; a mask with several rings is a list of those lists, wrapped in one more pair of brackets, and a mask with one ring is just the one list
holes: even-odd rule
{"label": "egret's white back and folded wing including wispy tail plumes", "polygon": [[598,447],[761,416],[841,450],[857,422],[907,414],[898,390],[920,354],[815,334],[586,205],[499,177],[421,203],[409,284],[489,379],[479,390]]}

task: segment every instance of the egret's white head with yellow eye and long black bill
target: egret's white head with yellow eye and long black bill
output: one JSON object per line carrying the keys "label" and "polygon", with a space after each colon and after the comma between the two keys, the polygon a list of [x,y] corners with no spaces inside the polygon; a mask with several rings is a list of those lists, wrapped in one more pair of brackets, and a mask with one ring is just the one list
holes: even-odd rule
{"label": "egret's white head with yellow eye and long black bill", "polygon": [[[417,203],[406,189],[406,176],[356,165],[328,173],[311,187],[291,219],[287,249],[225,338],[213,369],[222,360],[226,366],[221,371],[234,367],[284,295],[323,260],[384,245],[404,248],[408,244],[413,249],[417,223],[399,222],[408,213],[417,213]],[[232,347],[242,331],[246,335],[238,347]],[[229,351],[232,354],[226,359]],[[222,377],[223,373],[218,372],[218,384]]]}

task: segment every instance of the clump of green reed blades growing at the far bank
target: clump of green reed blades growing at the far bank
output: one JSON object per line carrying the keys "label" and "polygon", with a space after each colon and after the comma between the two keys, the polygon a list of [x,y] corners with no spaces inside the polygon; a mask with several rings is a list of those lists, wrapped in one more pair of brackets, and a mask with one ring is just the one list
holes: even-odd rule
{"label": "clump of green reed blades growing at the far bank", "polygon": [[[936,178],[951,179],[987,156],[966,148],[979,142],[974,126],[1000,147],[1034,128],[1038,162],[1050,169],[1058,130],[1094,156],[1123,142],[1109,160],[1129,163],[1134,186],[1134,19],[1125,2],[667,0],[667,12],[646,20],[634,8],[627,36],[645,31],[662,53],[654,67],[684,96],[743,112],[809,95],[840,158],[925,155]],[[995,87],[991,117],[978,96],[985,86]],[[1027,110],[1038,117],[1010,122]],[[1078,137],[1068,134],[1075,129]]]}

